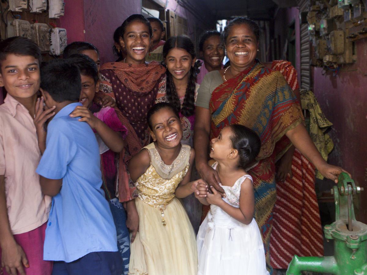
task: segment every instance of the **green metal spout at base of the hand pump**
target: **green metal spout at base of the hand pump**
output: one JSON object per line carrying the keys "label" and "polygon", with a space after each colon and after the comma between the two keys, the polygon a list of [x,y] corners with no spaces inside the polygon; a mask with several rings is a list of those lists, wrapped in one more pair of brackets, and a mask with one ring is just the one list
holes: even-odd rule
{"label": "green metal spout at base of the hand pump", "polygon": [[302,271],[338,274],[338,265],[334,256],[298,257],[294,256],[287,269],[287,275],[301,275]]}

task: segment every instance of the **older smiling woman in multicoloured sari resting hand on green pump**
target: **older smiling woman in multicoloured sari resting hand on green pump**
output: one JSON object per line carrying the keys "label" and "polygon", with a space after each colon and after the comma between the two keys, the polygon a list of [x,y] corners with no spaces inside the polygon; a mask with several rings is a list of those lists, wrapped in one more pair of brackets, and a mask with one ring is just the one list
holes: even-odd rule
{"label": "older smiling woman in multicoloured sari resting hand on green pump", "polygon": [[247,18],[235,18],[225,27],[222,39],[231,65],[208,73],[201,83],[194,131],[196,168],[210,186],[223,192],[217,172],[207,163],[210,138],[217,137],[230,124],[241,124],[258,133],[261,151],[248,173],[254,180],[255,219],[270,270],[269,239],[276,201],[275,144],[286,135],[329,179],[337,181],[343,170],[327,164],[317,151],[302,123],[301,108],[281,73],[265,68],[255,59],[258,25]]}

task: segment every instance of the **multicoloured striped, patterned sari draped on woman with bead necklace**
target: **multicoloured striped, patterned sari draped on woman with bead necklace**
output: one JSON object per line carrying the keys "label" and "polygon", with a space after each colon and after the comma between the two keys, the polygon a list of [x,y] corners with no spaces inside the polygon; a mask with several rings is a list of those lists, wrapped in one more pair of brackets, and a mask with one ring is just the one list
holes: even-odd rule
{"label": "multicoloured striped, patterned sari draped on woman with bead necklace", "polygon": [[254,64],[219,85],[210,101],[211,138],[227,125],[241,124],[254,130],[261,139],[257,164],[248,173],[254,180],[255,219],[260,228],[267,265],[272,228],[272,210],[276,201],[275,143],[302,123],[301,108],[280,72]]}

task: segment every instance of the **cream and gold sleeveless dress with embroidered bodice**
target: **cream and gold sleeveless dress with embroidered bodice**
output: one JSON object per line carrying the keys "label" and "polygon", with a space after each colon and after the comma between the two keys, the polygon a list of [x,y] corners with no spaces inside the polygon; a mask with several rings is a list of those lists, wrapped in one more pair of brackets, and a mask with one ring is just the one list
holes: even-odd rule
{"label": "cream and gold sleeveless dress with embroidered bodice", "polygon": [[129,274],[196,274],[195,233],[175,197],[189,170],[191,148],[183,144],[171,165],[164,164],[154,143],[144,148],[149,152],[150,166],[135,183],[140,220],[139,232],[131,243]]}

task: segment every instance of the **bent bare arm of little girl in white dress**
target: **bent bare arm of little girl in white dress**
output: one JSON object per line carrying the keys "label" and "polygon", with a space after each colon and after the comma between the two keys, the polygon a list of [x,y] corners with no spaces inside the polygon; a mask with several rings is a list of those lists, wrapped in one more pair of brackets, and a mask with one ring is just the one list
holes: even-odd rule
{"label": "bent bare arm of little girl in white dress", "polygon": [[208,203],[219,206],[229,216],[243,224],[251,223],[255,211],[254,190],[252,188],[251,180],[246,179],[241,185],[240,208],[233,207],[226,203],[214,187],[212,187],[211,190],[213,194],[210,194],[209,192],[207,193]]}

